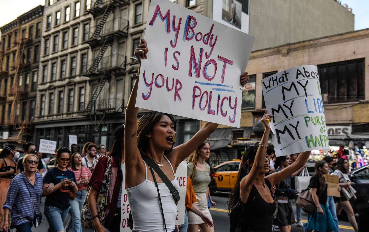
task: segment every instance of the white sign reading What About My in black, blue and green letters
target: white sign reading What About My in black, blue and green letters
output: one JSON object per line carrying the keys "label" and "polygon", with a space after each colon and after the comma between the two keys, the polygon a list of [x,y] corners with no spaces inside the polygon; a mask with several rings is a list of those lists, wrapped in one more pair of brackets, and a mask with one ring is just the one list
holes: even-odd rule
{"label": "white sign reading What About My in black, blue and green letters", "polygon": [[276,156],[329,150],[318,68],[289,68],[261,80]]}

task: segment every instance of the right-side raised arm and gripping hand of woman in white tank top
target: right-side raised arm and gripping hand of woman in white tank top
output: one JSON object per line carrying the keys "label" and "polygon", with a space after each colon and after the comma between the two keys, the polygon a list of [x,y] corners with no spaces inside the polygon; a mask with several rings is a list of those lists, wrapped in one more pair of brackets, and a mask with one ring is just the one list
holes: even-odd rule
{"label": "right-side raised arm and gripping hand of woman in white tank top", "polygon": [[[240,75],[240,82],[242,87],[247,84],[249,80],[249,75],[247,72],[244,72]],[[184,144],[179,145],[178,147],[173,148],[170,152],[169,159],[170,162],[175,163],[176,168],[187,156],[189,156],[194,150],[196,150],[199,145],[206,140],[211,133],[215,131],[218,127],[218,123],[205,123],[204,127],[201,128],[189,141]]]}

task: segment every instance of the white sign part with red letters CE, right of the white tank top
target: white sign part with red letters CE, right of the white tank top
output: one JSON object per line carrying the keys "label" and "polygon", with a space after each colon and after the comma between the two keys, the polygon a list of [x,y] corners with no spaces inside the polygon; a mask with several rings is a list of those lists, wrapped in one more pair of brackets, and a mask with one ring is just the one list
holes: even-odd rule
{"label": "white sign part with red letters CE, right of the white tank top", "polygon": [[176,225],[184,223],[184,214],[186,212],[186,191],[187,191],[187,161],[182,161],[176,171],[176,178],[179,183],[179,196],[181,197],[177,205]]}

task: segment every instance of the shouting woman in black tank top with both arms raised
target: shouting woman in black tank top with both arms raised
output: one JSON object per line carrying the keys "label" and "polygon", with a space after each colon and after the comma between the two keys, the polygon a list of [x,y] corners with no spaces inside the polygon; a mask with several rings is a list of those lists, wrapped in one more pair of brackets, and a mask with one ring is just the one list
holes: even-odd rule
{"label": "shouting woman in black tank top with both arms raised", "polygon": [[271,121],[271,117],[273,116],[268,115],[268,110],[266,110],[261,119],[264,127],[261,142],[257,145],[246,145],[245,154],[241,158],[237,183],[230,194],[229,212],[236,210],[239,205],[242,208],[241,221],[237,226],[241,228],[242,232],[272,231],[272,217],[276,210],[276,204],[272,197],[272,186],[304,166],[310,154],[310,151],[301,152],[292,165],[265,177],[270,168],[266,154],[270,126],[266,123],[266,119]]}

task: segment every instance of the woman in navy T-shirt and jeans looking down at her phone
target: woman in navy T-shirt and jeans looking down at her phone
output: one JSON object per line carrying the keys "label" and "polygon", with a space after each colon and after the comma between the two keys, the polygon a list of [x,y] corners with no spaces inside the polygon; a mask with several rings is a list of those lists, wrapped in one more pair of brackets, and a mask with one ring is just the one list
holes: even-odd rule
{"label": "woman in navy T-shirt and jeans looking down at her phone", "polygon": [[[63,221],[69,211],[69,193],[77,194],[76,177],[66,166],[70,162],[70,151],[66,147],[56,151],[56,167],[48,171],[44,177],[43,194],[46,196],[44,214],[49,222],[48,232],[65,231]],[[48,191],[49,184],[54,189]]]}

